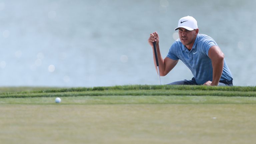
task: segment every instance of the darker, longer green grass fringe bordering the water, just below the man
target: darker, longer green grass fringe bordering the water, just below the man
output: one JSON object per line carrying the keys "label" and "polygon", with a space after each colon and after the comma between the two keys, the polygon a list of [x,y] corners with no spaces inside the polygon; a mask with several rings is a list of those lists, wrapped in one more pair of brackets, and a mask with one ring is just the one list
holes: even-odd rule
{"label": "darker, longer green grass fringe bordering the water, just below the man", "polygon": [[128,85],[93,88],[59,88],[32,91],[9,91],[0,93],[0,98],[11,97],[65,97],[102,95],[179,95],[179,96],[256,96],[256,87],[210,87],[210,86],[150,86]]}

